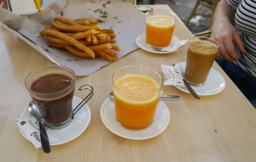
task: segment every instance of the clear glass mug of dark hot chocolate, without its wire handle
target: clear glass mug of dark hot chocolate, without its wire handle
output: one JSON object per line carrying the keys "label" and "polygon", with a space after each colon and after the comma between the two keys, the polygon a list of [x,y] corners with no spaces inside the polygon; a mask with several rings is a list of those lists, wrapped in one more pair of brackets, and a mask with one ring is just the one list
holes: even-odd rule
{"label": "clear glass mug of dark hot chocolate, without its wire handle", "polygon": [[25,85],[29,95],[49,128],[64,128],[78,111],[74,112],[72,108],[75,82],[76,73],[61,65],[40,67],[26,77]]}

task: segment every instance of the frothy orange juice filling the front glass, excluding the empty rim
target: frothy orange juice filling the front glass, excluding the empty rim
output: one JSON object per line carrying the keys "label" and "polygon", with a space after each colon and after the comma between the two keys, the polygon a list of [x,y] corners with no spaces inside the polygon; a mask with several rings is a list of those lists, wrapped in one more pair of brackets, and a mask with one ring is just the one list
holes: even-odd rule
{"label": "frothy orange juice filling the front glass, excluding the empty rim", "polygon": [[122,90],[114,89],[116,119],[119,123],[134,129],[149,126],[157,109],[159,84],[152,78],[137,74],[122,76],[114,84]]}

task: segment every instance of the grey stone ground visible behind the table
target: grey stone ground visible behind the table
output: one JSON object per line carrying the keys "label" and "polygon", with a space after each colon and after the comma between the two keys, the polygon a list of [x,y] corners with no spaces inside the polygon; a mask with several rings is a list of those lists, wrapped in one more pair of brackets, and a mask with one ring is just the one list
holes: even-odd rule
{"label": "grey stone ground visible behind the table", "polygon": [[[137,5],[148,4],[148,0],[137,0]],[[155,0],[155,4],[166,4],[177,14],[177,16],[186,23],[192,9],[194,8],[196,0]],[[201,14],[211,14],[212,10],[205,6],[199,5],[196,12]],[[210,17],[193,16],[187,26],[189,30],[195,34],[201,31],[207,31]]]}

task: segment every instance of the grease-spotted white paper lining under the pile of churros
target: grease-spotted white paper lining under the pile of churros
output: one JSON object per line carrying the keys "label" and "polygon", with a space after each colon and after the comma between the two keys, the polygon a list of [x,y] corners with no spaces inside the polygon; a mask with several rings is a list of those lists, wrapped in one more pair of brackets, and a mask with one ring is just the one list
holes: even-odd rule
{"label": "grease-spotted white paper lining under the pile of churros", "polygon": [[[121,52],[116,52],[119,59],[138,49],[135,40],[138,35],[145,33],[145,14],[124,0],[68,0],[68,2],[56,0],[55,3],[36,14],[16,15],[16,17],[10,15],[13,13],[0,9],[0,24],[4,28],[23,39],[55,64],[70,67],[76,75],[81,76],[90,75],[112,62],[104,58],[81,58],[67,50],[50,47],[48,41],[41,37],[39,32],[44,30],[45,25],[49,26],[50,20],[54,17],[65,17],[71,20],[96,19],[103,29],[113,29],[116,34],[116,45],[121,49]],[[15,24],[15,21],[19,16],[21,23],[18,29],[19,25]]]}

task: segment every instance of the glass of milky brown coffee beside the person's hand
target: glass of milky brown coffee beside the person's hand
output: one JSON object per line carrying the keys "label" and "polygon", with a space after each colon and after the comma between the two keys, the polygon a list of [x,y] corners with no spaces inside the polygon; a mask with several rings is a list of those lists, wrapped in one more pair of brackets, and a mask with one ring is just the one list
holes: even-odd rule
{"label": "glass of milky brown coffee beside the person's hand", "polygon": [[193,86],[202,86],[219,50],[219,43],[204,36],[189,39],[185,79]]}

